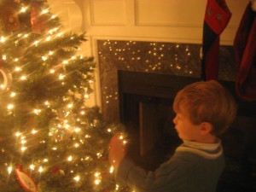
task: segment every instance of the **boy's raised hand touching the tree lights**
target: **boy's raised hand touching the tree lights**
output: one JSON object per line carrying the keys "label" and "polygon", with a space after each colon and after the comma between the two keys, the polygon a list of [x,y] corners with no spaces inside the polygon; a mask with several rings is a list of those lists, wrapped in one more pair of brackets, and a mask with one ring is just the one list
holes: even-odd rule
{"label": "boy's raised hand touching the tree lights", "polygon": [[121,134],[115,134],[110,140],[108,154],[109,163],[114,167],[115,170],[118,168],[121,160],[124,159],[125,154],[125,141]]}

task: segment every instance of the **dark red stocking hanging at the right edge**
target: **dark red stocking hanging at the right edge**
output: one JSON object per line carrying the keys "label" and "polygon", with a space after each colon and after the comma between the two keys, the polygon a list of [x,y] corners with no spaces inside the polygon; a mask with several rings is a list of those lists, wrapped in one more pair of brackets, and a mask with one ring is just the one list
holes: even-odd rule
{"label": "dark red stocking hanging at the right edge", "polygon": [[236,93],[247,101],[256,101],[256,12],[248,3],[236,32],[234,48],[238,72]]}

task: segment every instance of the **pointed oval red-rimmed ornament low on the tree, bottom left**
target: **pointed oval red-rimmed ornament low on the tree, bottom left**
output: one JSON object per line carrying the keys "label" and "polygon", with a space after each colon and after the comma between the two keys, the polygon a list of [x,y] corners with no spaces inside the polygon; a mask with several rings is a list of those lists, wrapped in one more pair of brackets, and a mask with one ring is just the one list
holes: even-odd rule
{"label": "pointed oval red-rimmed ornament low on the tree, bottom left", "polygon": [[15,173],[23,189],[28,192],[38,192],[37,184],[33,181],[32,177],[27,172],[22,170],[20,165],[18,165],[15,169]]}

